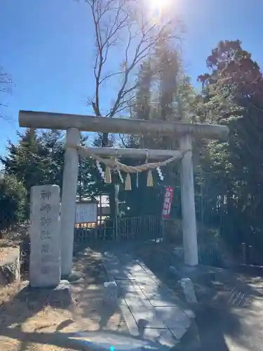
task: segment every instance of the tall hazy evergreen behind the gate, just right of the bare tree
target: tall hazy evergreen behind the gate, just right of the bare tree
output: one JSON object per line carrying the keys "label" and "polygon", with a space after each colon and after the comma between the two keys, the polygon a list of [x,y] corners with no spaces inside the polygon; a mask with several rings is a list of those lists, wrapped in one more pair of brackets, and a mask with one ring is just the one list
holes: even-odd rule
{"label": "tall hazy evergreen behind the gate, just right of the bare tree", "polygon": [[[160,40],[151,60],[141,65],[137,80],[137,91],[133,105],[132,118],[155,119],[161,121],[190,121],[195,112],[196,94],[189,78],[184,75],[177,51]],[[176,150],[175,138],[161,135],[132,135],[129,147]],[[123,160],[128,164],[144,163],[143,160]],[[155,160],[151,160],[155,161]],[[124,193],[130,216],[144,214],[161,215],[163,185],[175,187],[175,213],[180,215],[180,178],[178,164],[162,168],[165,181],[161,182],[156,171],[153,172],[154,187],[147,187],[147,172],[140,173],[137,179],[132,176],[133,190]]]}

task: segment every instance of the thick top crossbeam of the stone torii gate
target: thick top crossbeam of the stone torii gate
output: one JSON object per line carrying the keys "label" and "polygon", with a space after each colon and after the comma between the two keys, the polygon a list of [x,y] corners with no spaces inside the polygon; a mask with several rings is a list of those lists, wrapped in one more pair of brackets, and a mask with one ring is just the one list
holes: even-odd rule
{"label": "thick top crossbeam of the stone torii gate", "polygon": [[229,133],[227,126],[214,124],[189,124],[168,121],[144,121],[61,114],[50,112],[20,111],[19,126],[27,128],[63,129],[78,128],[80,131],[123,134],[191,135],[193,138],[208,138],[225,141]]}

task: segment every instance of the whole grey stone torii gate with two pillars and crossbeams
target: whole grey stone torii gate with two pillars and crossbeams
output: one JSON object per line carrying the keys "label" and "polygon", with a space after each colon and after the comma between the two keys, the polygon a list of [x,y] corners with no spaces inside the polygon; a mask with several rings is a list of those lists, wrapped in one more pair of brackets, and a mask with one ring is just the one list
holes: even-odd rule
{"label": "whole grey stone torii gate with two pillars and crossbeams", "polygon": [[27,128],[60,129],[67,131],[60,219],[62,276],[68,276],[72,271],[75,203],[79,167],[79,154],[74,145],[80,144],[81,131],[135,135],[170,135],[179,140],[180,151],[94,147],[90,148],[92,149],[90,153],[100,155],[116,155],[117,152],[119,156],[125,155],[126,157],[145,157],[146,154],[149,154],[149,157],[155,159],[175,156],[180,158],[181,155],[180,178],[184,264],[189,266],[198,265],[196,213],[194,205],[194,176],[191,152],[192,139],[205,138],[227,140],[229,133],[227,126],[144,121],[136,119],[119,119],[32,111],[19,112],[19,126]]}

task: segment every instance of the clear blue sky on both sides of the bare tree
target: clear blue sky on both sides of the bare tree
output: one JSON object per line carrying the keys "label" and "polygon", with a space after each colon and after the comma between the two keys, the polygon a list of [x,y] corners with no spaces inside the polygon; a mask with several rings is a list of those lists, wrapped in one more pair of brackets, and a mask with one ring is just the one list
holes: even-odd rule
{"label": "clear blue sky on both sides of the bare tree", "polygon": [[[263,67],[262,0],[171,1],[187,25],[183,58],[194,84],[206,71],[211,49],[224,39],[240,39]],[[0,120],[2,153],[8,138],[16,140],[19,110],[91,112],[86,97],[93,93],[94,52],[92,22],[83,0],[0,0],[0,13],[0,65],[15,83],[4,101],[13,122]],[[106,111],[112,87],[103,93]]]}

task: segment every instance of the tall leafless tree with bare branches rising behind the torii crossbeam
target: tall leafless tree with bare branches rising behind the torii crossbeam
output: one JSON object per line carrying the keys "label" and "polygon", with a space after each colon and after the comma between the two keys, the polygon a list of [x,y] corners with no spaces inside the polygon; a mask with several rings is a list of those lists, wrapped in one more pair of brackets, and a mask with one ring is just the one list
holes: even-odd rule
{"label": "tall leafless tree with bare branches rising behind the torii crossbeam", "polygon": [[[102,88],[116,84],[112,105],[104,113],[105,117],[114,117],[133,101],[138,84],[137,68],[154,53],[161,38],[180,39],[182,27],[175,18],[153,21],[142,8],[142,0],[85,1],[90,7],[95,33],[95,93],[88,104],[96,116],[102,116]],[[104,133],[102,146],[107,143],[108,135]]]}

